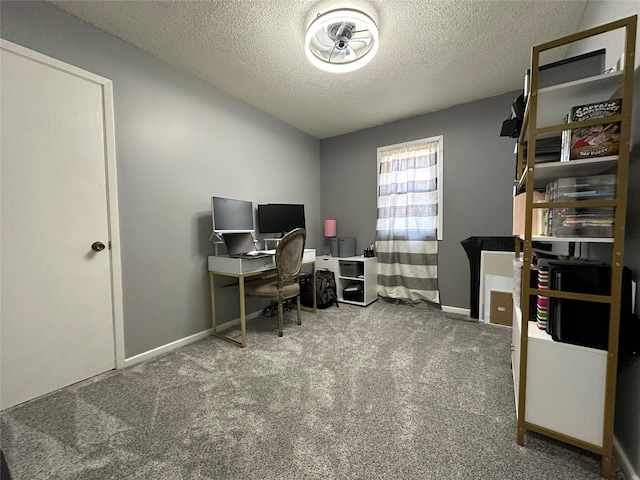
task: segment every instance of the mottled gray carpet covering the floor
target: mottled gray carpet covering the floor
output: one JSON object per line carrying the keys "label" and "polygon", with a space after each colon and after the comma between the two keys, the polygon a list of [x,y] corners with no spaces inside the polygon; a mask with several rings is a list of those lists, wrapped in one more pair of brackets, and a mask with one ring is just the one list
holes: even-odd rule
{"label": "mottled gray carpet covering the floor", "polygon": [[3,412],[14,479],[600,478],[596,455],[516,444],[509,329],[383,301],[303,315]]}

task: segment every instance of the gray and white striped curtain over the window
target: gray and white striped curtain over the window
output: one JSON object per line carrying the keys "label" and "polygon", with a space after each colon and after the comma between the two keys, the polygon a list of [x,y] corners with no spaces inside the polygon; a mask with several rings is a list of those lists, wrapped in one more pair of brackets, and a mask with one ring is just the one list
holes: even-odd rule
{"label": "gray and white striped curtain over the window", "polygon": [[442,137],[394,147],[378,149],[378,294],[439,304]]}

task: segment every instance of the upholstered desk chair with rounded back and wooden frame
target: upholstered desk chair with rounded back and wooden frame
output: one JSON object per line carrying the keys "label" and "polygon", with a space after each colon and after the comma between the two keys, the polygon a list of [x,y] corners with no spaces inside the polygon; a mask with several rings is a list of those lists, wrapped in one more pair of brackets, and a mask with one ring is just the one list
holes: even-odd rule
{"label": "upholstered desk chair with rounded back and wooden frame", "polygon": [[300,319],[300,269],[307,232],[296,228],[287,233],[276,247],[277,276],[248,282],[245,295],[263,298],[278,303],[278,336],[282,336],[283,312],[282,304],[290,298],[296,299],[298,309],[298,325]]}

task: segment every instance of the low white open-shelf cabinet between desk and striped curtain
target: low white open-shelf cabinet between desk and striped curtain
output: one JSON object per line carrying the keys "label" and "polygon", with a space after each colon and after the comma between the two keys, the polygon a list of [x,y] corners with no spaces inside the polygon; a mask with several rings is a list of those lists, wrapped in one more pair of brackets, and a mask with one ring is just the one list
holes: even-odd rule
{"label": "low white open-shelf cabinet between desk and striped curtain", "polygon": [[378,299],[375,257],[317,257],[318,270],[331,270],[336,277],[338,301],[366,307]]}

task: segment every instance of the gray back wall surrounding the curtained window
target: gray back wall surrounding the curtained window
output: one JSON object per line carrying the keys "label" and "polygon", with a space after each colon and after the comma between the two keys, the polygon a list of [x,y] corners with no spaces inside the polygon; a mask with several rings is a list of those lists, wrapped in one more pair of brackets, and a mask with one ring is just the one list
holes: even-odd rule
{"label": "gray back wall surrounding the curtained window", "polygon": [[377,148],[443,135],[440,301],[469,308],[469,260],[460,242],[511,235],[515,140],[499,135],[517,96],[507,93],[322,140],[322,217],[335,217],[338,236],[356,237],[362,250],[375,239]]}

